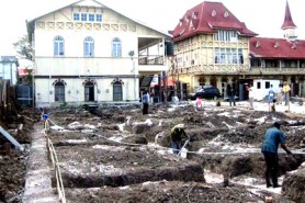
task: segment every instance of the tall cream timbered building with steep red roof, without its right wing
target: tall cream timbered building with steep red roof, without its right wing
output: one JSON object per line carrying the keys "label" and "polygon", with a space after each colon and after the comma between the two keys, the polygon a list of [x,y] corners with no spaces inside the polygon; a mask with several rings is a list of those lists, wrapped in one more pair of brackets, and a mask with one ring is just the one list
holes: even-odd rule
{"label": "tall cream timbered building with steep red roof, without its right wing", "polygon": [[202,2],[188,10],[171,32],[173,53],[169,76],[190,91],[212,84],[224,94],[227,83],[238,86],[250,70],[247,29],[222,2]]}

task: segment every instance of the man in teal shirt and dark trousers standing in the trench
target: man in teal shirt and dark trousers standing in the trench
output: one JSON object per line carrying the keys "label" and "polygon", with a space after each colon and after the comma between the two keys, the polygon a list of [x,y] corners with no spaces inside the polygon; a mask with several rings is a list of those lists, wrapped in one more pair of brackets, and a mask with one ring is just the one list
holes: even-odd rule
{"label": "man in teal shirt and dark trousers standing in the trench", "polygon": [[[266,131],[264,139],[262,144],[261,151],[266,161],[266,171],[264,178],[267,188],[273,185],[273,188],[281,187],[278,183],[278,147],[281,144],[281,147],[286,151],[287,155],[292,153],[287,149],[285,145],[284,133],[280,129],[280,122],[274,122],[273,125]],[[272,184],[270,182],[272,180]]]}

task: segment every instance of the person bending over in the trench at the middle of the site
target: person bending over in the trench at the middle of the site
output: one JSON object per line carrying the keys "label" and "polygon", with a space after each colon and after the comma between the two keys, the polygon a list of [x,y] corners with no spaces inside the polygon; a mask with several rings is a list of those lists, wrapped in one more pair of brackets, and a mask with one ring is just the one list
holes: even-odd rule
{"label": "person bending over in the trench at the middle of the site", "polygon": [[184,124],[178,124],[170,131],[170,145],[172,148],[173,154],[178,155],[182,147],[182,138],[185,137],[189,139],[185,131]]}

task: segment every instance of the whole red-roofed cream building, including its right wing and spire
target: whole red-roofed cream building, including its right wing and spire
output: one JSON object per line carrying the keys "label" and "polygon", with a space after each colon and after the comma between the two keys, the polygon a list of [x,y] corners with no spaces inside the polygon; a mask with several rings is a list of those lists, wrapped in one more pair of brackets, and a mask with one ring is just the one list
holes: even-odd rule
{"label": "whole red-roofed cream building, including its right wing and spire", "polygon": [[305,46],[296,40],[295,27],[289,4],[282,25],[285,38],[264,38],[257,37],[222,2],[202,2],[188,10],[170,32],[174,55],[168,75],[187,83],[189,91],[212,84],[223,97],[231,84],[240,100],[247,99],[246,84],[258,80],[267,82],[261,87],[268,80],[286,81],[294,95],[304,97]]}

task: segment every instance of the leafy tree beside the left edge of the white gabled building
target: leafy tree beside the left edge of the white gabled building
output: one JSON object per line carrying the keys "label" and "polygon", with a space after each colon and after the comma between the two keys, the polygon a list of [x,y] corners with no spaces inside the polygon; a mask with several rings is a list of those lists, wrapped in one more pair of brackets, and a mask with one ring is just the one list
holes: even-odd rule
{"label": "leafy tree beside the left edge of the white gabled building", "polygon": [[29,42],[27,35],[22,36],[18,42],[13,43],[13,46],[16,49],[19,57],[33,60],[34,49]]}

